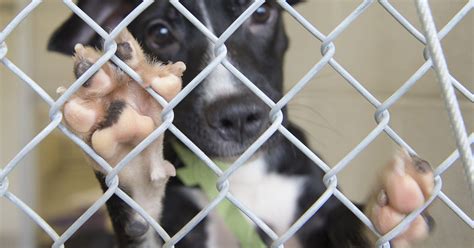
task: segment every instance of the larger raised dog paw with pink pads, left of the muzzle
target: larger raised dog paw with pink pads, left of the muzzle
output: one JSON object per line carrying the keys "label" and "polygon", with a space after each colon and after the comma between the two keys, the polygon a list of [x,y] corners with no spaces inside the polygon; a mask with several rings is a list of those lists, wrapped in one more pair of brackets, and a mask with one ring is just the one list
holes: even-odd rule
{"label": "larger raised dog paw with pink pads, left of the muzzle", "polygon": [[[151,86],[168,101],[180,91],[184,63],[150,62],[128,31],[122,32],[116,42],[116,55],[142,77],[145,87]],[[74,74],[80,77],[101,55],[81,44],[74,50]],[[161,124],[161,110],[142,86],[108,62],[65,103],[63,113],[67,126],[114,166]],[[161,141],[158,139],[155,143],[159,144],[153,147],[160,156]],[[149,154],[143,152],[140,156]],[[152,180],[175,173],[169,163],[146,171]]]}

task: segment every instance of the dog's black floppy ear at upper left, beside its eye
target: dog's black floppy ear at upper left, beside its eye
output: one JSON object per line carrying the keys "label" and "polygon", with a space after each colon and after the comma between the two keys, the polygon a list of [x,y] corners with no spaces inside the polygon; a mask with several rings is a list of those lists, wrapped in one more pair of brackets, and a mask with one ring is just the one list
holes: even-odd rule
{"label": "dog's black floppy ear at upper left, beside its eye", "polygon": [[[117,26],[137,5],[135,0],[79,0],[77,4],[105,30]],[[73,14],[54,31],[48,43],[48,50],[71,55],[77,43],[100,47],[101,38],[81,18]]]}

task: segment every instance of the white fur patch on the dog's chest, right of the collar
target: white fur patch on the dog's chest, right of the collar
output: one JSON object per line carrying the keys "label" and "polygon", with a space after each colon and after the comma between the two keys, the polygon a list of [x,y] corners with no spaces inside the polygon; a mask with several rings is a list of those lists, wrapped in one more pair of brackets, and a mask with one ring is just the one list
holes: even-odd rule
{"label": "white fur patch on the dog's chest, right of the collar", "polygon": [[267,172],[263,158],[243,165],[230,178],[231,193],[277,234],[293,223],[301,186],[301,178]]}

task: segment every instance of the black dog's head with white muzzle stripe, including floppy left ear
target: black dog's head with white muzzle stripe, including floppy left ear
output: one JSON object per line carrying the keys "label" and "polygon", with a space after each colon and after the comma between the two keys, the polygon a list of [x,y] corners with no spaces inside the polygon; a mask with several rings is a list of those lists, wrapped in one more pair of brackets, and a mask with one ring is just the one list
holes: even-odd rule
{"label": "black dog's head with white muzzle stripe, including floppy left ear", "polygon": [[[102,27],[110,29],[140,2],[80,0],[78,5]],[[181,2],[219,36],[253,1]],[[186,63],[184,85],[215,58],[213,43],[168,1],[153,3],[128,28],[150,57]],[[100,47],[101,40],[73,15],[53,34],[49,49],[71,54],[76,43]],[[225,45],[227,60],[268,97],[279,100],[283,56],[288,46],[279,5],[268,1],[259,7]],[[177,106],[174,123],[206,154],[230,157],[242,153],[269,126],[268,111],[237,77],[219,65]]]}

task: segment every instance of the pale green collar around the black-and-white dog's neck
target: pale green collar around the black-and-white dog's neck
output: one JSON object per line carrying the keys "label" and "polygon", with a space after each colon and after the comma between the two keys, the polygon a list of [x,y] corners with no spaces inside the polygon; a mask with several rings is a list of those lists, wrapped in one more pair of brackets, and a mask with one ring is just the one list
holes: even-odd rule
{"label": "pale green collar around the black-and-white dog's neck", "polygon": [[[219,191],[216,188],[218,177],[208,166],[202,162],[193,152],[178,142],[173,142],[173,148],[184,167],[177,169],[177,177],[186,186],[199,186],[209,200],[216,198]],[[229,164],[214,161],[219,168],[227,170]],[[241,248],[266,247],[257,233],[257,229],[247,220],[227,198],[217,205],[217,212],[224,220],[229,230],[239,240]]]}

